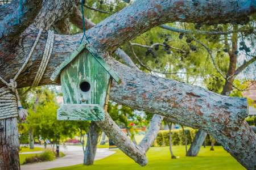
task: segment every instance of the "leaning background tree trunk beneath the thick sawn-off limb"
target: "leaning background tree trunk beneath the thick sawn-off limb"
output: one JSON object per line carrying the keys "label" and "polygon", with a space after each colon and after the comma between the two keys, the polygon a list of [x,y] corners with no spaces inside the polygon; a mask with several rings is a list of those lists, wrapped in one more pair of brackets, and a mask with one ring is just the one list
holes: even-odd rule
{"label": "leaning background tree trunk beneath the thick sawn-off limb", "polygon": [[205,133],[203,130],[199,129],[196,133],[195,138],[193,139],[193,142],[191,143],[191,146],[187,152],[186,156],[197,156],[198,152],[200,151],[201,146],[203,145],[205,141],[207,133]]}

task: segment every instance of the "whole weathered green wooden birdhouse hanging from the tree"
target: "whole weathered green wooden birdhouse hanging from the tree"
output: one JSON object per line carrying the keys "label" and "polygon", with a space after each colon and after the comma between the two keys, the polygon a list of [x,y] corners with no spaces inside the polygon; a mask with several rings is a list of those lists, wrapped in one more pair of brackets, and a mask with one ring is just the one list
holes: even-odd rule
{"label": "whole weathered green wooden birdhouse hanging from the tree", "polygon": [[64,99],[57,120],[103,121],[112,79],[121,83],[96,50],[82,42],[51,76],[52,81],[61,82]]}

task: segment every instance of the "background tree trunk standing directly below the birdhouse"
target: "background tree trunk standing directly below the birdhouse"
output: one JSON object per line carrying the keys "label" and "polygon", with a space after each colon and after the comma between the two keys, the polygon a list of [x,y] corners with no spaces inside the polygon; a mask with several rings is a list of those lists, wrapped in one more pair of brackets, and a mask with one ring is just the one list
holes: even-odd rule
{"label": "background tree trunk standing directly below the birdhouse", "polygon": [[94,158],[96,155],[98,137],[100,136],[100,132],[97,130],[97,124],[92,121],[90,123],[89,131],[87,133],[87,143],[84,152],[84,165],[93,165]]}

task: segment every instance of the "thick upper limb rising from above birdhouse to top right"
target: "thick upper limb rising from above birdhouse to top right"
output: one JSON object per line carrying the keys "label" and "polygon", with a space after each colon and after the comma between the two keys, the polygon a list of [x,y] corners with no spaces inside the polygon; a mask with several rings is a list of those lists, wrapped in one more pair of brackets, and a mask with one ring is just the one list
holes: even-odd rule
{"label": "thick upper limb rising from above birdhouse to top right", "polygon": [[255,12],[255,6],[254,1],[200,1],[195,5],[193,1],[139,0],[89,29],[86,35],[98,52],[112,53],[126,41],[163,23],[245,23],[247,15]]}

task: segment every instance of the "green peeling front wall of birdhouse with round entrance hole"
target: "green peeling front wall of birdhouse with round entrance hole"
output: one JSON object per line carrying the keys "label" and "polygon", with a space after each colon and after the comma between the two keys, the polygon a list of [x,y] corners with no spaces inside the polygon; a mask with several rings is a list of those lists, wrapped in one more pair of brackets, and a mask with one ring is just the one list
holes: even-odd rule
{"label": "green peeling front wall of birdhouse with round entrance hole", "polygon": [[83,50],[61,71],[64,104],[98,104],[104,108],[109,79],[104,67]]}

